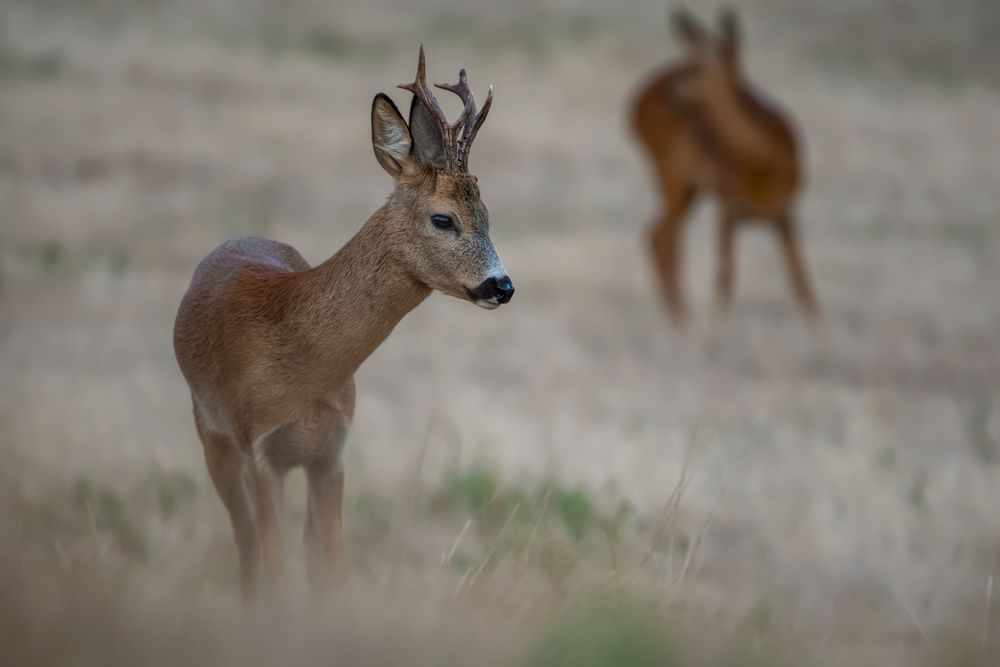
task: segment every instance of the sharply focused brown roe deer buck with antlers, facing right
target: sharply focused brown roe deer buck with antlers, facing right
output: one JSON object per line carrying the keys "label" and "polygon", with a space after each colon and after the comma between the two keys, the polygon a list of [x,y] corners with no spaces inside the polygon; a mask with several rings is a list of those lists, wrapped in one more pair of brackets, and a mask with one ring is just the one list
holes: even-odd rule
{"label": "sharply focused brown roe deer buck with antlers, facing right", "polygon": [[439,88],[464,109],[448,122],[427,86],[421,46],[409,122],[383,93],[372,145],[395,181],[388,201],[322,264],[259,238],[223,243],[198,266],[181,301],[174,350],[191,389],[208,470],[229,511],[245,598],[258,560],[272,590],[284,582],[284,474],[306,469],[310,580],[340,570],[341,448],[354,413],[354,373],[432,290],[483,308],[514,286],[489,236],[469,148],[493,88],[476,109],[465,70]]}

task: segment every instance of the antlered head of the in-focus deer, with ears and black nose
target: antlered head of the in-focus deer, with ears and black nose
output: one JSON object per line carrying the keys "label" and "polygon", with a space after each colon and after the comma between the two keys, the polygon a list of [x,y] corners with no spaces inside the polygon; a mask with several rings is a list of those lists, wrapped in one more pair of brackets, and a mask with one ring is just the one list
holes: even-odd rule
{"label": "antlered head of the in-focus deer, with ears and black nose", "polygon": [[427,86],[424,48],[417,76],[399,84],[413,93],[409,122],[384,93],[372,103],[372,146],[395,190],[387,204],[387,235],[397,261],[419,283],[492,309],[510,301],[514,285],[493,248],[489,213],[468,171],[469,149],[493,102],[481,111],[465,70],[458,83],[435,84],[461,98],[450,123]]}

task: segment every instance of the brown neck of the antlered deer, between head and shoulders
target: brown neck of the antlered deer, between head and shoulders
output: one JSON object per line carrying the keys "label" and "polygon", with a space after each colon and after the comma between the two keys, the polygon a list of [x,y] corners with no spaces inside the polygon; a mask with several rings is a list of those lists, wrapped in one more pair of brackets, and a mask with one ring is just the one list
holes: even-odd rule
{"label": "brown neck of the antlered deer, between head and shoulders", "polygon": [[[296,274],[296,333],[314,352],[310,366],[331,389],[350,378],[431,290],[400,263],[379,209],[333,257]],[[300,339],[301,340],[301,339]]]}

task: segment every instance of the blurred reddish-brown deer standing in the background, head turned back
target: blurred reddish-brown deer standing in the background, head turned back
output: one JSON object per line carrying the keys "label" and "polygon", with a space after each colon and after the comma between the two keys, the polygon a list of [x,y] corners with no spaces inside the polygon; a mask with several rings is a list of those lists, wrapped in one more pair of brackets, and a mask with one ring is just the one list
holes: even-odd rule
{"label": "blurred reddish-brown deer standing in the background, head turned back", "polygon": [[699,191],[721,207],[716,298],[733,292],[736,227],[769,221],[778,233],[795,294],[810,318],[819,309],[799,250],[793,201],[800,159],[789,120],[745,79],[736,14],[723,11],[713,37],[684,10],[672,15],[687,46],[684,62],[660,71],[637,96],[632,129],[653,162],[664,213],[653,223],[653,262],[675,322],[684,319],[681,255],[684,216]]}

